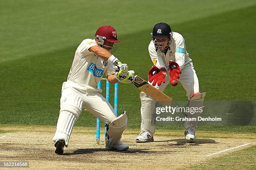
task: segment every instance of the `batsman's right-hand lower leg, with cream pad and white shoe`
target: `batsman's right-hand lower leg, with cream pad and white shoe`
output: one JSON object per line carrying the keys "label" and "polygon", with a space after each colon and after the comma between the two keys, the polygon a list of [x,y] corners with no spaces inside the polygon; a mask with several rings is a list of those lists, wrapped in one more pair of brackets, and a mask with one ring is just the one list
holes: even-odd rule
{"label": "batsman's right-hand lower leg, with cream pad and white shoe", "polygon": [[109,125],[106,126],[106,149],[127,150],[129,146],[120,142],[123,131],[127,127],[127,116],[125,111],[123,111],[122,115],[116,117]]}

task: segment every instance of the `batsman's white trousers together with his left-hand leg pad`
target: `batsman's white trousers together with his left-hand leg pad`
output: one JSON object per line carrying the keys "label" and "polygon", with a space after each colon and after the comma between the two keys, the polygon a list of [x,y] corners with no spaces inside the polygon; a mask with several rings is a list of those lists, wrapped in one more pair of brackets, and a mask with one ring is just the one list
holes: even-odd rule
{"label": "batsman's white trousers together with his left-hand leg pad", "polygon": [[110,124],[117,116],[110,103],[103,97],[101,90],[82,87],[74,82],[64,82],[61,89],[60,114],[53,140],[65,139],[66,146],[82,107],[105,124]]}

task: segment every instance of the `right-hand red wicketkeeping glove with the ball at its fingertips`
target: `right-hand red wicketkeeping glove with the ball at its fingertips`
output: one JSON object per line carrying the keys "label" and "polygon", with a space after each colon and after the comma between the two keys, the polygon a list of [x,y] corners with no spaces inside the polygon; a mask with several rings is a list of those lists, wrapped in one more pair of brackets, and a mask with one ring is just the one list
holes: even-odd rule
{"label": "right-hand red wicketkeeping glove with the ball at its fingertips", "polygon": [[181,71],[177,62],[169,61],[168,70],[169,70],[170,82],[172,83],[172,86],[177,86],[178,85],[177,79],[179,79],[179,75],[181,74]]}

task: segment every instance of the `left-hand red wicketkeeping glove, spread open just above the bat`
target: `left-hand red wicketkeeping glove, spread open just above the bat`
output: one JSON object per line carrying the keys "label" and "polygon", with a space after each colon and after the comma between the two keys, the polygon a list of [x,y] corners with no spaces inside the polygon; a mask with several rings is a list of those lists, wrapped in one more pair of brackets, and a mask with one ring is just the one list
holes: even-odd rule
{"label": "left-hand red wicketkeeping glove, spread open just above the bat", "polygon": [[158,68],[154,65],[148,72],[148,81],[153,81],[153,86],[155,86],[156,83],[157,85],[161,85],[162,82],[165,83],[166,72],[167,70],[165,67]]}

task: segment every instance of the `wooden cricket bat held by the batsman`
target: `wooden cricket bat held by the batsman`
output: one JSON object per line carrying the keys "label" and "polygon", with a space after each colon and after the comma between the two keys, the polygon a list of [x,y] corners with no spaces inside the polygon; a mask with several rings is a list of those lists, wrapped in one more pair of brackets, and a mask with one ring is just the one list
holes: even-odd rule
{"label": "wooden cricket bat held by the batsman", "polygon": [[140,76],[134,75],[132,84],[141,91],[145,92],[150,97],[152,97],[155,101],[159,102],[161,105],[171,105],[172,98],[170,98],[160,90],[156,89],[151,84],[148,84],[148,82],[146,80],[143,80],[143,78],[141,78]]}

